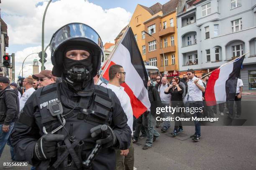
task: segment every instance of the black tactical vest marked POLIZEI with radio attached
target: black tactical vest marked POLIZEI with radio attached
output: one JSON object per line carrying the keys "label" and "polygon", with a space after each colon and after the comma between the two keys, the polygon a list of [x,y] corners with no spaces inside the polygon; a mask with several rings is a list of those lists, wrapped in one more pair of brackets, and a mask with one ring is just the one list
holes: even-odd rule
{"label": "black tactical vest marked POLIZEI with radio attached", "polygon": [[[60,83],[51,85],[50,87],[42,87],[36,92],[38,108],[40,116],[35,117],[36,121],[40,121],[44,127],[43,132],[51,133],[61,124],[57,117],[51,115],[47,110],[47,105],[50,102],[60,100]],[[95,146],[95,139],[91,138],[90,129],[101,124],[111,125],[112,120],[112,91],[102,86],[95,85],[90,103],[85,103],[88,108],[74,106],[68,108],[63,105],[63,116],[66,120],[64,128],[56,131],[54,134],[63,134],[66,136],[64,142],[58,144],[58,156],[55,160],[41,163],[38,168],[45,169],[48,164],[51,168],[58,170],[82,170],[82,161],[87,158],[90,150]],[[61,101],[61,100],[60,100]],[[80,98],[80,103],[83,102],[83,97]],[[88,102],[88,100],[87,100]],[[39,127],[42,130],[42,127]],[[72,140],[69,139],[72,137]],[[73,150],[74,153],[72,153]]]}

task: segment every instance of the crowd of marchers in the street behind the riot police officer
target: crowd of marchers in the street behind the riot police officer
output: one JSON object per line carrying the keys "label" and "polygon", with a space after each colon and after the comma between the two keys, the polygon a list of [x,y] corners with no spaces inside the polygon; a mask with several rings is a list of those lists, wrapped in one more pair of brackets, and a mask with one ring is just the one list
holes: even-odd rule
{"label": "crowd of marchers in the street behind the riot police officer", "polygon": [[[205,76],[206,73],[201,76],[196,76],[194,70],[188,70],[187,74],[183,74],[183,77],[172,77],[171,82],[167,80],[167,77],[156,77],[157,84],[153,86],[150,78],[148,80],[148,97],[151,102],[151,108],[148,108],[137,119],[133,116],[130,98],[124,91],[121,83],[125,82],[125,72],[120,65],[113,65],[109,70],[110,82],[106,85],[117,95],[120,104],[125,111],[128,118],[128,126],[132,131],[132,142],[127,150],[116,150],[117,163],[116,169],[121,170],[126,167],[133,167],[134,164],[134,148],[132,143],[136,143],[138,139],[146,138],[146,143],[143,150],[151,148],[153,142],[160,136],[160,133],[156,130],[162,124],[161,132],[165,133],[171,127],[170,121],[157,121],[156,122],[156,108],[157,106],[166,107],[203,107],[204,112],[200,114],[196,112],[193,116],[197,117],[215,117],[217,114],[217,107],[207,106],[205,102],[205,88],[210,76]],[[203,77],[200,79],[199,77]],[[57,77],[58,79],[58,77]],[[59,78],[59,81],[61,78]],[[58,81],[58,80],[57,80]],[[59,82],[58,81],[58,82]],[[15,154],[10,142],[10,133],[14,127],[15,121],[18,119],[20,113],[23,112],[23,107],[28,98],[34,91],[40,87],[45,87],[56,82],[56,77],[52,75],[51,70],[43,70],[39,74],[35,74],[22,79],[19,83],[10,83],[7,77],[0,77],[0,102],[1,110],[5,113],[4,117],[0,117],[0,130],[3,131],[0,141],[0,156],[3,153],[5,144],[10,146],[11,160],[15,160]],[[96,81],[95,81],[96,82]],[[226,103],[219,104],[220,115],[224,115],[225,105],[228,108],[227,114],[229,117],[234,117],[232,105],[236,104],[236,116],[241,115],[241,93],[243,90],[243,82],[238,79],[236,97],[234,101],[228,101]],[[4,107],[2,107],[2,105]],[[230,105],[230,106],[229,106]],[[163,112],[161,117],[168,117],[169,112]],[[174,117],[181,117],[181,112],[175,112]],[[189,117],[189,114],[183,112],[184,117]],[[200,122],[195,121],[195,134],[191,138],[195,141],[199,141],[201,138]],[[171,133],[174,137],[177,134],[182,133],[183,127],[181,121],[175,121],[174,130]],[[141,135],[140,135],[141,134]],[[31,170],[34,170],[32,167]]]}

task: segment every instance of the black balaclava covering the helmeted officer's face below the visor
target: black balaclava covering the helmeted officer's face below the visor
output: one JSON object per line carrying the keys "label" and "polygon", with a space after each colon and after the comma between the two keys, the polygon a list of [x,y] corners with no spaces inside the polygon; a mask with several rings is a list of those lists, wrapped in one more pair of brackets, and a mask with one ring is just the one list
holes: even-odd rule
{"label": "black balaclava covering the helmeted officer's face below the visor", "polygon": [[[86,50],[90,53],[90,56],[84,60],[72,60],[66,57],[66,53],[70,50]],[[71,45],[64,51],[64,80],[67,81],[69,87],[74,89],[76,92],[83,91],[84,88],[90,84],[92,79],[92,52],[90,49],[79,46]]]}

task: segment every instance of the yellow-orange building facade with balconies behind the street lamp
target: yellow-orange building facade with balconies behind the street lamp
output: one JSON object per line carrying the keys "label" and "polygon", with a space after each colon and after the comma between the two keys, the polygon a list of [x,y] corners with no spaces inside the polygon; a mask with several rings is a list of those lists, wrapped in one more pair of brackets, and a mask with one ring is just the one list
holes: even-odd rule
{"label": "yellow-orange building facade with balconies behind the street lamp", "polygon": [[[157,66],[161,73],[167,71],[169,76],[173,75],[174,70],[179,70],[176,20],[178,2],[179,0],[170,0],[164,5],[156,3],[151,7],[138,4],[129,23],[144,63]],[[150,27],[154,27],[154,32],[151,34],[154,37],[143,34],[143,31],[148,32]],[[121,37],[120,35],[122,32],[115,42]],[[164,57],[159,43],[154,42],[155,39],[162,45]]]}

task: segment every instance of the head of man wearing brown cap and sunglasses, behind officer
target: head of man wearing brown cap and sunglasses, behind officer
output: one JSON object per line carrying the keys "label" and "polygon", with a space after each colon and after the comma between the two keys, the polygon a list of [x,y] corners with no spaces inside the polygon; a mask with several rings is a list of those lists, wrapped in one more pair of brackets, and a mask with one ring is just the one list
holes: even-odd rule
{"label": "head of man wearing brown cap and sunglasses, behind officer", "polygon": [[32,75],[32,77],[38,81],[38,88],[56,82],[56,77],[52,75],[51,70],[42,70],[39,74]]}

